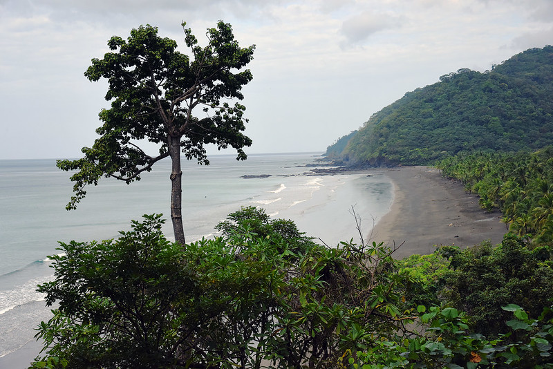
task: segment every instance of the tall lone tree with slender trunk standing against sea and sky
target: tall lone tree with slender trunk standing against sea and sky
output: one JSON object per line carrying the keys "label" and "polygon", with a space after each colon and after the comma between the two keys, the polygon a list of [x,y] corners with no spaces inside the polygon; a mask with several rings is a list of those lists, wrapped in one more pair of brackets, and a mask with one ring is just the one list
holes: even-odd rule
{"label": "tall lone tree with slender trunk standing against sea and sky", "polygon": [[[113,52],[92,59],[84,75],[94,82],[108,80],[106,100],[111,108],[100,112],[100,138],[82,149],[84,158],[57,161],[59,169],[77,171],[71,176],[74,196],[66,209],[75,209],[86,195],[86,185],[97,185],[102,176],[129,184],[169,157],[171,220],[175,240],[184,244],[181,151],[187,160],[209,164],[205,144],[232,146],[236,159],[245,160],[243,147],[252,144],[242,133],[245,106],[225,100],[243,100],[241,89],[252,73],[238,70],[252,61],[254,46],[238,46],[230,24],[219,21],[207,30],[207,46],[201,47],[185,26],[182,23],[191,57],[176,50],[176,41],[159,37],[158,28],[147,25],[131,30],[126,41],[112,37],[108,46]],[[196,108],[203,108],[205,117],[192,115]],[[159,145],[157,155],[139,146],[145,140]]]}

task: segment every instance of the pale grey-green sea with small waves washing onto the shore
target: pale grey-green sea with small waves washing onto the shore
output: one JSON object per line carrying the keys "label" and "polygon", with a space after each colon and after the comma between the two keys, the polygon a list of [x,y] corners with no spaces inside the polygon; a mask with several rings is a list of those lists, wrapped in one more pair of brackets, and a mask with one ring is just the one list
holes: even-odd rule
{"label": "pale grey-green sea with small waves washing onto the shore", "polygon": [[[393,201],[393,185],[381,172],[310,175],[320,153],[212,155],[209,166],[183,161],[182,214],[187,242],[214,236],[215,225],[241,206],[263,207],[273,218],[294,220],[300,231],[329,247],[359,241],[352,207],[365,238]],[[76,210],[70,174],[55,160],[0,160],[0,368],[26,368],[39,351],[33,338],[50,311],[37,284],[53,277],[49,255],[58,241],[116,238],[143,214],[165,214],[163,231],[173,239],[169,218],[170,162],[126,185],[102,179]],[[268,175],[265,178],[242,176]],[[11,358],[11,359],[10,359]],[[17,358],[14,359],[14,358]],[[6,366],[7,368],[7,366]],[[17,367],[14,367],[17,369]]]}

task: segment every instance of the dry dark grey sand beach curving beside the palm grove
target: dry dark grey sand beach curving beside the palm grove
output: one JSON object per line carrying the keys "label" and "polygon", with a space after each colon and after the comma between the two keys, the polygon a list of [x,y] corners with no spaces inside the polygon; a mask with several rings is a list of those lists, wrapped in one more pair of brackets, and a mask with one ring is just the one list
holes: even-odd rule
{"label": "dry dark grey sand beach curving beside the palm grove", "polygon": [[395,185],[391,210],[377,225],[371,240],[403,245],[394,257],[431,254],[435,245],[469,247],[491,240],[496,245],[507,232],[499,211],[486,213],[478,196],[438,169],[401,167],[384,171]]}

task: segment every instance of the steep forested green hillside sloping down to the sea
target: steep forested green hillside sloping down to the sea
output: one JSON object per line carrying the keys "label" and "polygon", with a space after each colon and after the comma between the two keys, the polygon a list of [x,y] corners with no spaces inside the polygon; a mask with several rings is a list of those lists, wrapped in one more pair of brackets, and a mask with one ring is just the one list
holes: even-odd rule
{"label": "steep forested green hillside sloping down to the sea", "polygon": [[553,144],[553,47],[514,55],[484,73],[460,69],[375,113],[343,150],[349,162],[429,164],[470,151]]}

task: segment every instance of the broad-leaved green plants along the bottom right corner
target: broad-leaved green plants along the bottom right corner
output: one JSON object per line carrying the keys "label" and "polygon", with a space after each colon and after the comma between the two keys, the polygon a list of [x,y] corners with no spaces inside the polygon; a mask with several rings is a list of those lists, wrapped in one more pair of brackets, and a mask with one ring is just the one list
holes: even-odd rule
{"label": "broad-leaved green plants along the bottom right corner", "polygon": [[[375,342],[370,350],[346,352],[339,368],[553,368],[552,309],[547,307],[538,319],[531,319],[516,304],[503,310],[512,312],[506,322],[512,332],[489,340],[468,332],[467,315],[456,308],[418,306],[417,322],[422,332]],[[516,339],[510,339],[516,333]]]}

